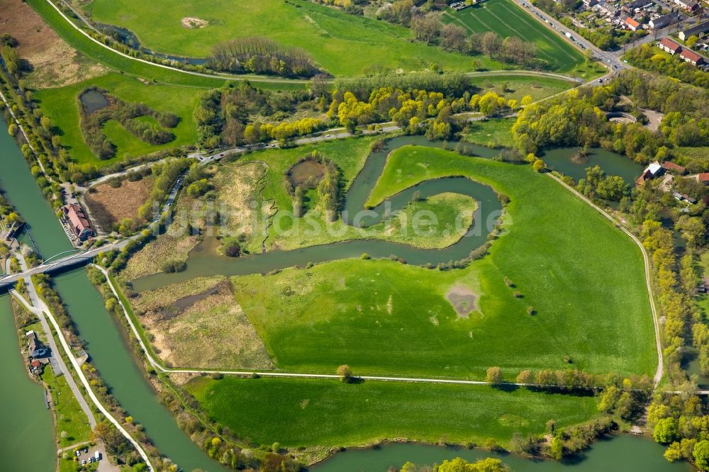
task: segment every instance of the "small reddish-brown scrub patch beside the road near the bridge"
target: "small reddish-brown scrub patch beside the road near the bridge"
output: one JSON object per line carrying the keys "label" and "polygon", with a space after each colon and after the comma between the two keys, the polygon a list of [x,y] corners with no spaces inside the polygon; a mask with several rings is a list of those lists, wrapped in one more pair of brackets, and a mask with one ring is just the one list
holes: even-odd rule
{"label": "small reddish-brown scrub patch beside the road near the bridge", "polygon": [[150,195],[154,180],[152,176],[135,182],[124,180],[116,189],[109,184],[99,184],[84,195],[84,201],[96,223],[110,231],[113,223],[133,218],[138,213],[138,208]]}

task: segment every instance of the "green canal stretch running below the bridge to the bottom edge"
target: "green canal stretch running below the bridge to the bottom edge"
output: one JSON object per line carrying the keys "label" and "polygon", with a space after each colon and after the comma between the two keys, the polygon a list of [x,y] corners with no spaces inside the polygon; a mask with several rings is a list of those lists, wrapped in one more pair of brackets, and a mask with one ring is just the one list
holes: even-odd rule
{"label": "green canal stretch running below the bridge to the bottom edge", "polygon": [[[145,434],[161,454],[185,471],[224,469],[191,442],[172,414],[160,404],[155,390],[145,380],[123,337],[123,328],[104,308],[104,300],[89,282],[84,269],[55,277],[55,288],[67,305],[85,339],[86,352],[118,403],[145,427]],[[140,368],[142,369],[142,368]]]}

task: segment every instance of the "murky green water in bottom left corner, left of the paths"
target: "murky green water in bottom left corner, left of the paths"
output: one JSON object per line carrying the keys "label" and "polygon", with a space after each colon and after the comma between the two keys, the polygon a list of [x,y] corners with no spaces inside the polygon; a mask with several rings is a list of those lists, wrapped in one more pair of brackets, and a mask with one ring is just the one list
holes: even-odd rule
{"label": "murky green water in bottom left corner, left of the paths", "polygon": [[27,376],[9,295],[0,296],[0,359],[0,469],[52,471],[56,462],[52,413],[44,389]]}

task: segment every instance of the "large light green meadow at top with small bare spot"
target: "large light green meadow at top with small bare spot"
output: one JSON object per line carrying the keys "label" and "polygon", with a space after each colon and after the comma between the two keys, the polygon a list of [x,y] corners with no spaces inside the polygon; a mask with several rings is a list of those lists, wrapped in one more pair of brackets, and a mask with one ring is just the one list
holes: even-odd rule
{"label": "large light green meadow at top with small bare spot", "polygon": [[[364,16],[352,16],[310,1],[230,0],[174,2],[95,0],[89,5],[96,21],[123,26],[158,52],[206,57],[211,47],[240,36],[267,36],[284,45],[302,47],[336,75],[361,74],[373,65],[421,70],[439,64],[448,70],[472,70],[474,60],[486,69],[499,64],[484,56],[469,57],[412,42],[408,28]],[[186,16],[206,19],[206,28],[183,28]]]}

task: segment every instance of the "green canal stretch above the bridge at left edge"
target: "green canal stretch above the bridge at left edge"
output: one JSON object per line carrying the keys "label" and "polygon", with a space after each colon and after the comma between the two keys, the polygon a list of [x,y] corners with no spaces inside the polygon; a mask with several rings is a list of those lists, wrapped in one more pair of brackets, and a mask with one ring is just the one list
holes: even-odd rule
{"label": "green canal stretch above the bridge at left edge", "polygon": [[[2,118],[0,126],[7,129]],[[72,249],[54,210],[30,174],[28,162],[17,142],[4,131],[0,133],[0,189],[26,221],[26,230],[18,238],[21,242],[31,245],[27,235],[30,230],[45,259]]]}

